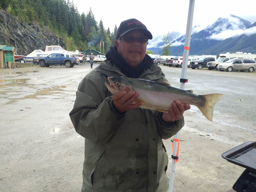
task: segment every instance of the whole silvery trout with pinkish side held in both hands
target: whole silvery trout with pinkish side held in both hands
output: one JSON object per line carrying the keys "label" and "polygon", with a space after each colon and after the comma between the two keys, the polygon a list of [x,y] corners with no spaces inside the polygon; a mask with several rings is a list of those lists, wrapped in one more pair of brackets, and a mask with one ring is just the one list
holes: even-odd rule
{"label": "whole silvery trout with pinkish side held in both hands", "polygon": [[105,85],[112,94],[120,91],[139,93],[139,97],[134,103],[143,102],[140,108],[168,113],[172,108],[172,103],[177,100],[180,103],[195,105],[210,121],[212,121],[215,103],[223,96],[219,93],[196,95],[192,90],[178,89],[170,86],[168,82],[144,79],[108,77],[108,82],[105,82]]}

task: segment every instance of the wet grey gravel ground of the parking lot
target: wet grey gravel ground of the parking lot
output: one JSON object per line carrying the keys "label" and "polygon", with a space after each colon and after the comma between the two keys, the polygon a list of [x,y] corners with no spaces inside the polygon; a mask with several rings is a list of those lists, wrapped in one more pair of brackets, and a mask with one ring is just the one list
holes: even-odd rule
{"label": "wet grey gravel ground of the parking lot", "polygon": [[[161,68],[179,88],[181,68]],[[80,80],[90,71],[88,63],[0,69],[0,191],[80,191],[84,139],[68,113]],[[185,112],[173,191],[228,191],[244,168],[221,154],[256,139],[256,72],[188,68],[187,78],[186,90],[224,96],[212,122],[195,106]],[[169,157],[172,139],[164,140]]]}

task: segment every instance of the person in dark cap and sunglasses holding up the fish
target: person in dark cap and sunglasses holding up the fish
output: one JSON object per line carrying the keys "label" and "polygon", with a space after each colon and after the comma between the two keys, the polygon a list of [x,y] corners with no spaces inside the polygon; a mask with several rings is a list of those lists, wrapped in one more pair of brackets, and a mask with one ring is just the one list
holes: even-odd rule
{"label": "person in dark cap and sunglasses holding up the fish", "polygon": [[172,103],[169,113],[138,108],[138,93],[115,95],[105,86],[109,76],[167,81],[146,54],[150,31],[128,19],[117,29],[106,60],[80,82],[69,116],[85,138],[82,191],[167,191],[168,157],[162,139],[184,126],[184,110]]}

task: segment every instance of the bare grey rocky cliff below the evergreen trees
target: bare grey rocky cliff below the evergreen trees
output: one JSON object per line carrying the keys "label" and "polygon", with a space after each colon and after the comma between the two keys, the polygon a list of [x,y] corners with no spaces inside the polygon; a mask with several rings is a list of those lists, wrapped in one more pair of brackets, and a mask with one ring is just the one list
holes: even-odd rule
{"label": "bare grey rocky cliff below the evergreen trees", "polygon": [[[45,50],[46,45],[58,45],[58,37],[44,26],[19,22],[14,16],[0,10],[0,45],[16,48],[17,54],[29,54],[35,49]],[[65,42],[59,38],[59,45],[65,49]]]}

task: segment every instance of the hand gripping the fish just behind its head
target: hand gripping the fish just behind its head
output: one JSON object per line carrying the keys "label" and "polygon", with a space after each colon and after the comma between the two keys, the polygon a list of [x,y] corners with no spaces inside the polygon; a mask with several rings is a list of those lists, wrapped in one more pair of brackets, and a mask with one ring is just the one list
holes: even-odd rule
{"label": "hand gripping the fish just behind its head", "polygon": [[135,93],[135,91],[128,93],[126,91],[120,91],[113,95],[113,103],[116,109],[123,113],[128,109],[137,109],[139,106],[143,105],[143,102],[132,104],[138,97],[139,94]]}

